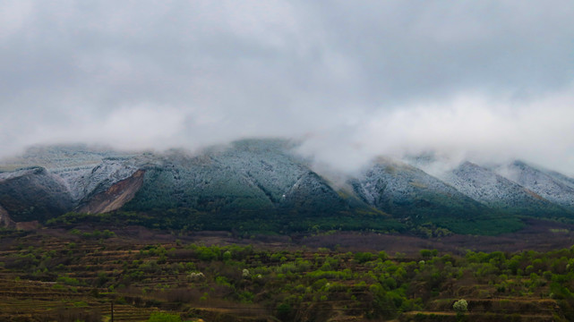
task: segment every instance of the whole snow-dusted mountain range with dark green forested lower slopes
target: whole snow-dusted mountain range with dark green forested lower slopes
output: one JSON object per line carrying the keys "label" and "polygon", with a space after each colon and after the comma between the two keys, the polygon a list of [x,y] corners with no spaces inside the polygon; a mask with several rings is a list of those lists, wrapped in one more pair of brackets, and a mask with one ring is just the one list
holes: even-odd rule
{"label": "whole snow-dusted mountain range with dark green forested lower slopes", "polygon": [[574,219],[574,179],[525,162],[467,161],[433,176],[420,159],[379,157],[341,182],[314,171],[296,145],[240,140],[198,154],[31,148],[0,163],[0,225],[74,212],[184,230],[494,234],[525,216]]}

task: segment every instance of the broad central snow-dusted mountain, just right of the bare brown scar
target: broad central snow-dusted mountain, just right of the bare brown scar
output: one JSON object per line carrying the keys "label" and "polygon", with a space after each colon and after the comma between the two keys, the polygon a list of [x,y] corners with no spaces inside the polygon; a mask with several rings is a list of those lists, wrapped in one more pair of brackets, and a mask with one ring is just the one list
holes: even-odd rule
{"label": "broad central snow-dusted mountain, just right of the bare brown scar", "polygon": [[[233,220],[267,221],[259,225],[275,231],[305,230],[316,218],[348,216],[357,210],[388,219],[356,198],[339,196],[289,149],[290,143],[282,140],[242,140],[199,156],[173,152],[162,157],[161,165],[144,168],[141,190],[124,209],[180,209],[182,216],[207,213],[211,222],[221,223],[219,228],[228,228]],[[361,216],[356,220],[361,222]],[[330,220],[330,225],[336,223]]]}

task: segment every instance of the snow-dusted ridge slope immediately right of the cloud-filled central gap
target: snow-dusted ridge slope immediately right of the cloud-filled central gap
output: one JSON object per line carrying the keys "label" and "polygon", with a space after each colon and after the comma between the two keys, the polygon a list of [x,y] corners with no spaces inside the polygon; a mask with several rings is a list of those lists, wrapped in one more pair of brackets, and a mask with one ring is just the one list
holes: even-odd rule
{"label": "snow-dusted ridge slope immediately right of the cloud-filled central gap", "polygon": [[413,225],[440,225],[457,233],[497,233],[518,219],[502,216],[449,184],[405,163],[379,158],[352,181],[356,194],[370,205]]}

